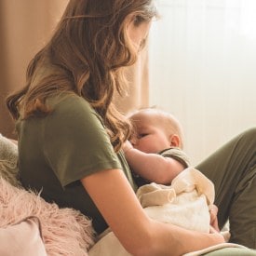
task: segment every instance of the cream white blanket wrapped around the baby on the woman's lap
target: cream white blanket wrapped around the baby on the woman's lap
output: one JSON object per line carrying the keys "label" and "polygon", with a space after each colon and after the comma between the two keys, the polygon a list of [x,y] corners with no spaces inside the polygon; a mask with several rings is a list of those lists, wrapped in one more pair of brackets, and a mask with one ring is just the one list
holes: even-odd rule
{"label": "cream white blanket wrapped around the baby on the woman's lap", "polygon": [[[197,169],[184,169],[169,186],[154,182],[143,185],[136,195],[150,218],[209,233],[209,207],[214,202],[214,185]],[[218,249],[224,247],[242,246],[224,243]],[[205,250],[208,252],[213,249],[216,247]],[[200,250],[186,255],[200,255],[203,252]],[[111,231],[88,251],[88,255],[130,256]]]}

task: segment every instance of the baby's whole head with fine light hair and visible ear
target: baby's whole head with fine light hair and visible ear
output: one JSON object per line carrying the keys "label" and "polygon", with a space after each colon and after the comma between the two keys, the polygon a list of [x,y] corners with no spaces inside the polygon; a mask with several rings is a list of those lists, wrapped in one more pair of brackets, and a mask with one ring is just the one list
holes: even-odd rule
{"label": "baby's whole head with fine light hair and visible ear", "polygon": [[141,109],[128,115],[134,128],[130,139],[134,148],[158,153],[169,147],[183,147],[182,126],[177,118],[156,109]]}

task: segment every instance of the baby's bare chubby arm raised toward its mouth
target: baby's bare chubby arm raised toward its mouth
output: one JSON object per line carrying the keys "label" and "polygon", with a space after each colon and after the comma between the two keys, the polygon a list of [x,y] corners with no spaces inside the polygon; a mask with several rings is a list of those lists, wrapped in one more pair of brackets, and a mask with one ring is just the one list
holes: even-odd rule
{"label": "baby's bare chubby arm raised toward its mouth", "polygon": [[125,143],[123,150],[130,168],[149,182],[169,184],[184,169],[179,161],[171,157],[143,153],[133,148],[129,141]]}

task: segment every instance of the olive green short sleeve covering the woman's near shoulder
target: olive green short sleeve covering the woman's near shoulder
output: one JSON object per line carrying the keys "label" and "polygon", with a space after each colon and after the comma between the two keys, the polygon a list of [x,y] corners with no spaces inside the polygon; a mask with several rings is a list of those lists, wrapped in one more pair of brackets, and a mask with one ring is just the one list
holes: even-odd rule
{"label": "olive green short sleeve covering the woman's near shoulder", "polygon": [[121,168],[101,117],[81,97],[53,104],[44,136],[44,154],[62,186],[102,169]]}

